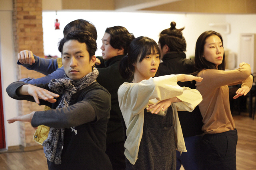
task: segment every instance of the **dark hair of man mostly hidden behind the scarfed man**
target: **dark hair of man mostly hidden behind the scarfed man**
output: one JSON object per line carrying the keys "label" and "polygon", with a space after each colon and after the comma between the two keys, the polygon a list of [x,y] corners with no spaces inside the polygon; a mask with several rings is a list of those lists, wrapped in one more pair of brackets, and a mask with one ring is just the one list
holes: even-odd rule
{"label": "dark hair of man mostly hidden behind the scarfed man", "polygon": [[82,19],[74,20],[68,23],[64,27],[63,35],[66,36],[70,31],[74,31],[76,29],[92,33],[92,37],[95,39],[95,41],[97,40],[98,35],[96,27],[91,22]]}

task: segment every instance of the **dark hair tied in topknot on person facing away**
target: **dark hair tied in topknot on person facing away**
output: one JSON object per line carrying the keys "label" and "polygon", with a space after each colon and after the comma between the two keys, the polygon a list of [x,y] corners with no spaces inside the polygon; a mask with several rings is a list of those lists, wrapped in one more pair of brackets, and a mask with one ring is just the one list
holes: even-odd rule
{"label": "dark hair tied in topknot on person facing away", "polygon": [[167,45],[169,47],[169,52],[176,51],[176,52],[184,52],[186,51],[186,40],[182,36],[182,30],[185,27],[181,29],[176,29],[176,22],[171,22],[171,27],[168,29],[164,29],[160,33],[159,42],[161,45],[161,49],[164,47],[164,45]]}

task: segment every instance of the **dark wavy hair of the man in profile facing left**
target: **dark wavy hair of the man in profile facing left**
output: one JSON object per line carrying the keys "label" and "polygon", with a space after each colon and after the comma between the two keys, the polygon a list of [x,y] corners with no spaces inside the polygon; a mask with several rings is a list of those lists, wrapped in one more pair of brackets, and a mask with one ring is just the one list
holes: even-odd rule
{"label": "dark wavy hair of the man in profile facing left", "polygon": [[105,33],[110,34],[110,45],[114,49],[124,48],[124,54],[127,54],[128,47],[134,39],[133,34],[129,33],[129,31],[122,26],[109,27],[106,29]]}

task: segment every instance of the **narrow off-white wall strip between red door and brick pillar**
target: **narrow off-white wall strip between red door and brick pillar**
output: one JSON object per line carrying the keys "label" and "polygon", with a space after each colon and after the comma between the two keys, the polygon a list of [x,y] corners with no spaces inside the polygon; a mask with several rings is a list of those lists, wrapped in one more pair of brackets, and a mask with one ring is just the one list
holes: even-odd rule
{"label": "narrow off-white wall strip between red door and brick pillar", "polygon": [[18,123],[8,124],[7,119],[18,115],[18,102],[8,96],[6,88],[16,81],[16,56],[12,32],[12,11],[0,11],[0,61],[4,107],[6,148],[20,145]]}

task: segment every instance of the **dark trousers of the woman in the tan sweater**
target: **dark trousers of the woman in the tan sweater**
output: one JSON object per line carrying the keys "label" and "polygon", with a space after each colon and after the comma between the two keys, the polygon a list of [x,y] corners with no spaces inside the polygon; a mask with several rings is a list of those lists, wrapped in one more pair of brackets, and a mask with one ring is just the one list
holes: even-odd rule
{"label": "dark trousers of the woman in the tan sweater", "polygon": [[237,131],[206,134],[201,156],[204,170],[236,170]]}

